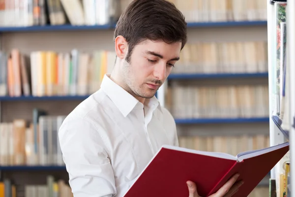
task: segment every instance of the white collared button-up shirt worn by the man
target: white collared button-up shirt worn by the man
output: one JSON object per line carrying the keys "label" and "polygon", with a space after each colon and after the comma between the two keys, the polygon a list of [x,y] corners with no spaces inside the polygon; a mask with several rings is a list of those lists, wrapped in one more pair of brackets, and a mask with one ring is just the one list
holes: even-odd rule
{"label": "white collared button-up shirt worn by the man", "polygon": [[74,197],[123,197],[162,145],[178,146],[169,111],[155,97],[142,104],[109,75],[66,117],[59,142]]}

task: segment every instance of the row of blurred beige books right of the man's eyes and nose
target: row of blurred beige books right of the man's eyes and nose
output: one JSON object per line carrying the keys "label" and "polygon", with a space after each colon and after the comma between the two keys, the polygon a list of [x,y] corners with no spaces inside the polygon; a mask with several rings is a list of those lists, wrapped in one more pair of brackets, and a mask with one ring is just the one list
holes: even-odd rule
{"label": "row of blurred beige books right of the man's eyes and nose", "polygon": [[173,73],[267,72],[267,42],[187,43]]}

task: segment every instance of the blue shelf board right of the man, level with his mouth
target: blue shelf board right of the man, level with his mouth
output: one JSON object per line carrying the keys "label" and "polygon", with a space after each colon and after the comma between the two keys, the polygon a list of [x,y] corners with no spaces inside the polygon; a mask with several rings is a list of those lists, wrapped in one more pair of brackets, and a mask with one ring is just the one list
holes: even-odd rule
{"label": "blue shelf board right of the man, level with his mouth", "polygon": [[172,73],[168,79],[211,79],[211,78],[254,78],[268,77],[268,72],[261,73]]}

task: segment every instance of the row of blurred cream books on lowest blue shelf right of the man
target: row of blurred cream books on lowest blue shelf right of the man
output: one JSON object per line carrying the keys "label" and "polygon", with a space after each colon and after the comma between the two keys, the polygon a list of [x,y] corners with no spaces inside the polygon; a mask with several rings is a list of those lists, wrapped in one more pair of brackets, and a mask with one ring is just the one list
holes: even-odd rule
{"label": "row of blurred cream books on lowest blue shelf right of the man", "polygon": [[174,86],[166,106],[175,118],[268,117],[267,85]]}

